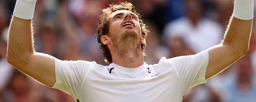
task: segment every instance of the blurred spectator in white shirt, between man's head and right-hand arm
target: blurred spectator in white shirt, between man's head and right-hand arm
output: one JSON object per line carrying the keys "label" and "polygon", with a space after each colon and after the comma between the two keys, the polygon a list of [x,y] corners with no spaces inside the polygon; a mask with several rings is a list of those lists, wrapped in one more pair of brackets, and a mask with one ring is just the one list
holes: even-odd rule
{"label": "blurred spectator in white shirt, between man's head and right-hand arm", "polygon": [[199,0],[185,0],[185,5],[186,14],[167,24],[162,40],[170,45],[168,40],[180,37],[194,53],[219,44],[223,35],[222,27],[203,17],[202,3]]}

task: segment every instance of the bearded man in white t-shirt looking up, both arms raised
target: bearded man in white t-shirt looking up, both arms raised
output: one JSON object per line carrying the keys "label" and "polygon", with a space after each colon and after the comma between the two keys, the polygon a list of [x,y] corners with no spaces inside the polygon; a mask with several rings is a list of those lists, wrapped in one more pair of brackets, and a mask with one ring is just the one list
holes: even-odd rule
{"label": "bearded man in white t-shirt looking up, both arms raised", "polygon": [[140,15],[131,3],[112,4],[102,11],[97,37],[110,65],[61,61],[33,49],[35,2],[16,2],[7,60],[42,84],[67,92],[77,102],[180,102],[189,88],[206,83],[247,53],[252,29],[253,0],[236,0],[234,17],[221,44],[196,55],[162,57],[158,64],[147,65],[143,58],[147,30]]}

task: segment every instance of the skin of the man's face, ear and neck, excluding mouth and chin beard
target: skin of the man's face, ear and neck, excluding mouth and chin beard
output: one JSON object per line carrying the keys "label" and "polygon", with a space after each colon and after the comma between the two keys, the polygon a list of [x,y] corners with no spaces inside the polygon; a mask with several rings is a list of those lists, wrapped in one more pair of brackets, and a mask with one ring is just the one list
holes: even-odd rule
{"label": "skin of the man's face, ear and neck, excluding mouth and chin beard", "polygon": [[[121,14],[120,14],[121,13]],[[119,14],[119,15],[117,15]],[[145,36],[141,36],[141,27],[138,21],[138,17],[135,16],[134,13],[131,11],[126,11],[126,10],[120,10],[116,11],[113,14],[109,16],[110,20],[110,30],[108,35],[103,35],[101,37],[101,41],[103,44],[107,45],[108,48],[110,49],[111,55],[112,55],[112,61],[113,63],[126,67],[126,68],[137,68],[141,66],[144,63],[144,57],[143,57],[143,52],[141,50],[140,44],[145,44]],[[132,26],[125,26],[123,27],[123,21],[126,20],[132,20],[135,24],[135,27]],[[117,46],[115,46],[113,40],[119,40],[122,39],[124,36],[124,32],[135,32],[136,36],[139,36],[137,47],[133,47],[131,45],[119,45],[117,46],[124,46],[125,50],[122,49],[116,49]],[[111,36],[114,36],[113,34],[117,34],[117,38],[111,38]],[[133,42],[133,41],[132,41]],[[123,47],[121,47],[123,48]],[[119,53],[123,52],[123,53]],[[132,63],[132,64],[131,64]]]}

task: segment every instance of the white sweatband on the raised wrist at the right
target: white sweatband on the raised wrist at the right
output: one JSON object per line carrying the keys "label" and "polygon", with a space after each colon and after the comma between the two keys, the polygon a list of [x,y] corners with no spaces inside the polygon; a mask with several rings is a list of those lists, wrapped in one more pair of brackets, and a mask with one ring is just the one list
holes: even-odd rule
{"label": "white sweatband on the raised wrist at the right", "polygon": [[233,16],[241,20],[253,19],[254,0],[235,0]]}

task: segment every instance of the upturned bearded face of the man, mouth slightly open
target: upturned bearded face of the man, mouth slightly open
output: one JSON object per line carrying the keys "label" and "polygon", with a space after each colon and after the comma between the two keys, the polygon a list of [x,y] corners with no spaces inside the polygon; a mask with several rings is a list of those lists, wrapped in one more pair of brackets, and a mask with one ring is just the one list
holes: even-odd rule
{"label": "upturned bearded face of the man, mouth slightly open", "polygon": [[124,50],[138,49],[141,44],[145,44],[137,15],[127,10],[119,10],[109,16],[108,35],[113,51],[125,52]]}

